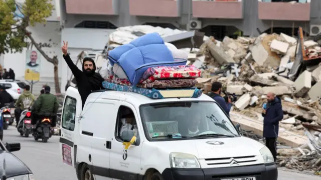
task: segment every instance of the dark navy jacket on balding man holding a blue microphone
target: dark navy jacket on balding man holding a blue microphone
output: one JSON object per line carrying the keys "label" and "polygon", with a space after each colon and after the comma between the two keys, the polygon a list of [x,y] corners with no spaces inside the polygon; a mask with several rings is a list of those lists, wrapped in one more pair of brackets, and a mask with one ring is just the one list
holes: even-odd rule
{"label": "dark navy jacket on balding man holding a blue microphone", "polygon": [[279,133],[279,121],[283,119],[282,103],[279,97],[266,104],[266,112],[262,113],[263,137],[277,137]]}

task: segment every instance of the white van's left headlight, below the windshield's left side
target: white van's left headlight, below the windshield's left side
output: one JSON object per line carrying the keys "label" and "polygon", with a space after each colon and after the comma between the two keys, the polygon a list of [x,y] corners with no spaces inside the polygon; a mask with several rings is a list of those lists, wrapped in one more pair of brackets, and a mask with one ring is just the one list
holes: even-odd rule
{"label": "white van's left headlight, below the windshield's left side", "polygon": [[182,153],[182,152],[172,152],[170,154],[171,167],[175,168],[201,168],[199,160],[195,155]]}

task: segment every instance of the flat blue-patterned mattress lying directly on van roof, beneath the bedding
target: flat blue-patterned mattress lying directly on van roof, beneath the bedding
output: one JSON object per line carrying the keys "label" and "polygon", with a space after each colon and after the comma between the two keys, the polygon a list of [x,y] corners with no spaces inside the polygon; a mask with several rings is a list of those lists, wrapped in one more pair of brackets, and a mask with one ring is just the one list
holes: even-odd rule
{"label": "flat blue-patterned mattress lying directly on van roof, beneath the bedding", "polygon": [[168,89],[155,89],[155,88],[141,88],[127,85],[115,84],[108,81],[103,81],[102,86],[106,89],[122,91],[122,92],[135,92],[153,99],[164,99],[171,97],[193,97],[197,98],[202,95],[202,91],[196,87],[192,88],[168,88]]}

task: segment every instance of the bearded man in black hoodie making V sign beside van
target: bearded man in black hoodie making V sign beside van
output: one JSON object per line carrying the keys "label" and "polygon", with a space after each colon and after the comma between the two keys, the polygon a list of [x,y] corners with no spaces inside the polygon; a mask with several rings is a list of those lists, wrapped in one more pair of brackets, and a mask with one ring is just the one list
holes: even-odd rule
{"label": "bearded man in black hoodie making V sign beside van", "polygon": [[104,81],[104,78],[102,78],[99,73],[95,72],[96,64],[90,57],[85,57],[83,59],[82,71],[74,64],[68,54],[68,41],[66,43],[64,41],[61,50],[66,63],[75,76],[78,92],[82,100],[82,107],[84,107],[86,99],[91,91],[103,89],[102,82]]}

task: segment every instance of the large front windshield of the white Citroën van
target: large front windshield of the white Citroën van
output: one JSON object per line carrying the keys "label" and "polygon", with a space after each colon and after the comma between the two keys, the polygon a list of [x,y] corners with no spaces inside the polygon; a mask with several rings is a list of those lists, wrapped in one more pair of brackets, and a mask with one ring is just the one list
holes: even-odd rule
{"label": "large front windshield of the white Citro\u00ebn van", "polygon": [[149,140],[239,136],[233,123],[216,102],[146,104],[140,107],[140,115]]}

